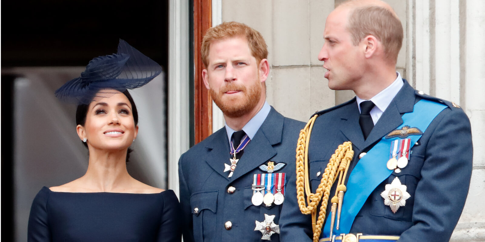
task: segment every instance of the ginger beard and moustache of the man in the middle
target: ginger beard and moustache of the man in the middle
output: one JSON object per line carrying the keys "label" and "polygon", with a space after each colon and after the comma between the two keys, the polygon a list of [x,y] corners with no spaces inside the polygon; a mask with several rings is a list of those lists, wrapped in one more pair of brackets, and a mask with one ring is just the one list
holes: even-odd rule
{"label": "ginger beard and moustache of the man in the middle", "polygon": [[[231,90],[241,91],[243,96],[224,95],[226,91]],[[261,82],[258,77],[254,84],[247,88],[244,85],[237,85],[234,82],[228,82],[219,92],[211,88],[210,96],[212,96],[214,103],[222,110],[224,115],[236,118],[250,112],[258,105],[259,99],[261,98],[261,90]]]}

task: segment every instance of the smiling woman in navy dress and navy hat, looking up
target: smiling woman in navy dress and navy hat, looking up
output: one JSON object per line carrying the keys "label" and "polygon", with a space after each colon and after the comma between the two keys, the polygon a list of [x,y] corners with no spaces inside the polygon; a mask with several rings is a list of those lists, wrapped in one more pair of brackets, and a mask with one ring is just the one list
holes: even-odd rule
{"label": "smiling woman in navy dress and navy hat, looking up", "polygon": [[60,99],[79,103],[76,130],[89,150],[89,165],[81,178],[39,191],[29,242],[181,240],[175,193],[135,180],[126,167],[138,134],[138,113],[126,89],[160,72],[156,62],[120,40],[117,54],[93,59],[80,78],[56,91]]}

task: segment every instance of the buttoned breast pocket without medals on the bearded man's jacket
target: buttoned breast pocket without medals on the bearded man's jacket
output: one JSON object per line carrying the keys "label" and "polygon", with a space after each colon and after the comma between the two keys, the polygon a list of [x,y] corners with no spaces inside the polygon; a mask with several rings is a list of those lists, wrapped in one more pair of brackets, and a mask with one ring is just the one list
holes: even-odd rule
{"label": "buttoned breast pocket without medals on the bearded man's jacket", "polygon": [[194,240],[204,241],[214,234],[218,191],[194,193],[190,198],[194,224]]}

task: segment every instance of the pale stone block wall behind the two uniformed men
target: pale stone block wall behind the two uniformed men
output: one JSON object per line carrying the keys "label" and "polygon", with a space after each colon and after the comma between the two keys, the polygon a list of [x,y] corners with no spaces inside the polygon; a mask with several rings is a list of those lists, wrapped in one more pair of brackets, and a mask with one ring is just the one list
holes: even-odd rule
{"label": "pale stone block wall behind the two uniformed men", "polygon": [[[220,11],[215,14],[222,21],[243,22],[261,32],[270,52],[268,102],[287,117],[307,121],[315,111],[354,96],[328,89],[317,59],[325,18],[341,1],[220,0],[222,7],[213,11]],[[416,89],[462,106],[470,118],[473,174],[451,241],[485,241],[485,1],[386,1],[404,28],[397,70]]]}

